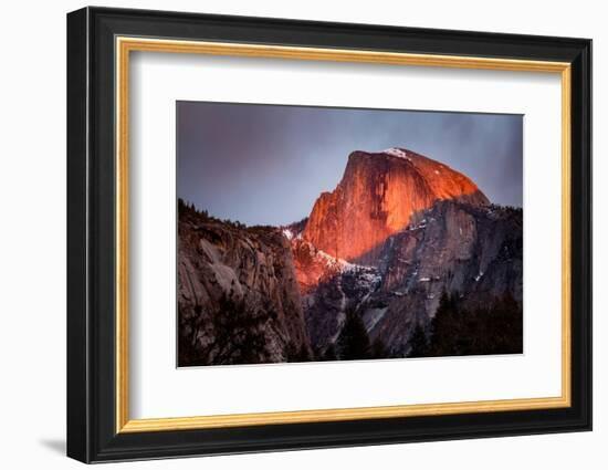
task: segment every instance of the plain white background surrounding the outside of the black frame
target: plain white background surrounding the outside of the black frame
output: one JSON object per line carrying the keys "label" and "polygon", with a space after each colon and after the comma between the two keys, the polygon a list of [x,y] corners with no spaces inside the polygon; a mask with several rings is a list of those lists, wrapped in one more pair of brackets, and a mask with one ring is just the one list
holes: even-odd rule
{"label": "plain white background surrounding the outside of the black frame", "polygon": [[[106,6],[326,21],[399,24],[594,39],[595,240],[608,237],[601,201],[608,170],[608,30],[598,1],[395,2],[389,0],[106,1]],[[65,434],[65,13],[86,3],[12,1],[0,25],[0,464],[77,468],[63,457]],[[608,456],[608,334],[601,289],[608,261],[595,246],[595,430],[482,439],[216,457],[122,468],[605,468]],[[604,446],[602,446],[604,445]]]}

